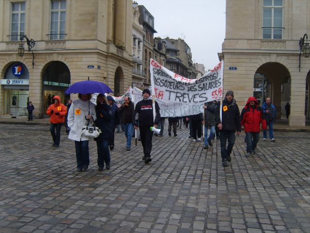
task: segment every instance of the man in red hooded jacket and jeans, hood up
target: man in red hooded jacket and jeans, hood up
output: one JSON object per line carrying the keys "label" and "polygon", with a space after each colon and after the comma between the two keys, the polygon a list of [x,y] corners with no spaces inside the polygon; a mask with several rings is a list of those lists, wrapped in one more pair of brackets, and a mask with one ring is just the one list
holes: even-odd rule
{"label": "man in red hooded jacket and jeans, hood up", "polygon": [[263,130],[266,129],[266,120],[263,119],[263,109],[254,97],[249,97],[246,106],[240,115],[241,126],[244,126],[247,139],[247,153],[255,153],[256,145],[260,140],[261,123]]}

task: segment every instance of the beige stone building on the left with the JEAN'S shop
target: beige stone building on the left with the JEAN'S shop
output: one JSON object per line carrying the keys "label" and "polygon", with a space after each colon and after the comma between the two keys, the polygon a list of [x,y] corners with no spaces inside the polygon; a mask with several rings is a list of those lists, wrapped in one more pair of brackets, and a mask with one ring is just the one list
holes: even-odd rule
{"label": "beige stone building on the left with the JEAN'S shop", "polygon": [[[54,95],[78,81],[108,84],[121,95],[132,81],[132,1],[0,0],[0,115],[44,116]],[[21,35],[35,40],[19,57]]]}

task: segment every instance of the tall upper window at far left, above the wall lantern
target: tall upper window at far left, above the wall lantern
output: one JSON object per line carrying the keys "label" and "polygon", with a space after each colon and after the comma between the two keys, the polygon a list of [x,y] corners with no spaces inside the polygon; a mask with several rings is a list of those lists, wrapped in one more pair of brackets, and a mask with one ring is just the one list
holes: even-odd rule
{"label": "tall upper window at far left, above the wall lantern", "polygon": [[11,40],[20,40],[25,35],[26,3],[12,3]]}

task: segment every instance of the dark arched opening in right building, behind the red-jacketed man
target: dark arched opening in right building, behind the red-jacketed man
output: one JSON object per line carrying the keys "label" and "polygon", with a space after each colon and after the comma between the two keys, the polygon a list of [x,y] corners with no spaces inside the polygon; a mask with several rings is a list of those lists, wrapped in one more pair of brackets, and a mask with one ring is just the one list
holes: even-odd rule
{"label": "dark arched opening in right building, behind the red-jacketed man", "polygon": [[[277,108],[277,118],[285,118],[285,104],[286,102],[290,102],[291,99],[291,75],[289,70],[280,63],[268,62],[257,69],[255,76],[258,76],[258,74],[262,75],[265,79],[261,88],[262,99],[270,97],[272,103]],[[255,94],[257,93],[255,93],[254,89]]]}

